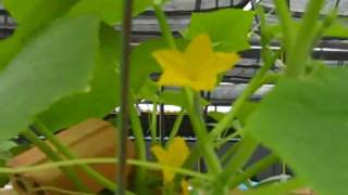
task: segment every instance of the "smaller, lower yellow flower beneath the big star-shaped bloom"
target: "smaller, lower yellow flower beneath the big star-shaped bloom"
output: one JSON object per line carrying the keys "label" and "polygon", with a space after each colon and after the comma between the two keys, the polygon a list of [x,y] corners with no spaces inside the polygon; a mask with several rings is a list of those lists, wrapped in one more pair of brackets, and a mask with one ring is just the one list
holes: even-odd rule
{"label": "smaller, lower yellow flower beneath the big star-shaped bloom", "polygon": [[[154,145],[151,147],[151,152],[154,154],[160,165],[174,168],[182,167],[189,155],[189,150],[186,145],[186,142],[182,138],[175,138],[169,145],[167,150],[164,150],[160,145]],[[164,183],[172,182],[175,173],[172,170],[164,169]]]}

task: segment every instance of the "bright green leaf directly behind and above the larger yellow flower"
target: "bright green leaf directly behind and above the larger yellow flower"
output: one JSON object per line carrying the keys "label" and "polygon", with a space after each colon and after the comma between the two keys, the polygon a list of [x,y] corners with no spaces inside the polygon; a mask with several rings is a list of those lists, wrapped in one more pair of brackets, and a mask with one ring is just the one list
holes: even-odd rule
{"label": "bright green leaf directly behind and above the larger yellow flower", "polygon": [[236,9],[224,9],[210,13],[194,13],[187,38],[207,34],[217,51],[237,52],[248,49],[254,13]]}

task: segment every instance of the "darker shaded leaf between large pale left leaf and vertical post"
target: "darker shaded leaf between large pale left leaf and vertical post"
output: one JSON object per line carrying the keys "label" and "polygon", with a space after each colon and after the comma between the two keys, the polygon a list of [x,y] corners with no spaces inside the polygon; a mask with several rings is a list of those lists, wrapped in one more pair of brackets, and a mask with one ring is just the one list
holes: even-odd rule
{"label": "darker shaded leaf between large pale left leaf and vertical post", "polygon": [[39,117],[49,129],[67,128],[90,117],[102,118],[117,106],[120,78],[115,68],[120,61],[121,36],[112,27],[103,26],[90,91],[63,99],[42,113]]}

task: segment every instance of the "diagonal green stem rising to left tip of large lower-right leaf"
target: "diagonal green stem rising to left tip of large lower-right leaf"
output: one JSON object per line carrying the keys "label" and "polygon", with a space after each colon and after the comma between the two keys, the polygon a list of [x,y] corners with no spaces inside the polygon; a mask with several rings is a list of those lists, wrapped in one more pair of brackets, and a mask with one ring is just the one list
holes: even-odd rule
{"label": "diagonal green stem rising to left tip of large lower-right leaf", "polygon": [[238,170],[241,170],[246,165],[247,160],[251,157],[254,150],[258,146],[258,142],[246,135],[238,146],[237,153],[233,156],[231,162],[225,167],[224,171],[221,172],[215,181],[213,182],[213,194],[223,194],[228,191],[228,182],[232,177],[237,176]]}

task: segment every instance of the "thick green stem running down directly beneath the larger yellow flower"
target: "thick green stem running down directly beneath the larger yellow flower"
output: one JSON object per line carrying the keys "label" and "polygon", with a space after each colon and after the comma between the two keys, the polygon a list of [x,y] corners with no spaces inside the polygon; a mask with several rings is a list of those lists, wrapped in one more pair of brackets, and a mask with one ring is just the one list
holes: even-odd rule
{"label": "thick green stem running down directly beneath the larger yellow flower", "polygon": [[213,174],[222,171],[217,155],[214,151],[213,140],[210,139],[204,121],[201,116],[199,96],[196,92],[185,88],[185,96],[188,103],[187,110],[191,120],[195,134],[198,139],[198,145],[207,160],[208,168]]}

